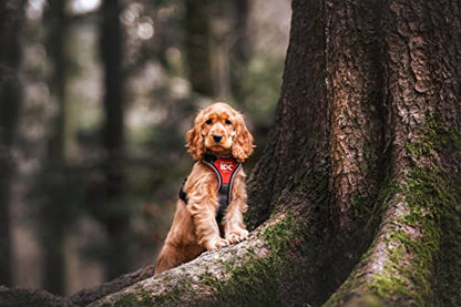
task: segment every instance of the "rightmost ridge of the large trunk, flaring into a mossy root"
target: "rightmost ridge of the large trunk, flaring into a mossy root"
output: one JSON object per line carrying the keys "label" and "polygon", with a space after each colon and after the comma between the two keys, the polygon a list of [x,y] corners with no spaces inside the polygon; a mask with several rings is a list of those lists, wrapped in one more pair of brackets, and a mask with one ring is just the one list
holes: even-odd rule
{"label": "rightmost ridge of the large trunk, flaring into a mossy root", "polygon": [[[460,248],[460,3],[382,8],[389,167],[382,218],[356,269],[327,303],[458,306]],[[386,160],[385,160],[386,161]]]}

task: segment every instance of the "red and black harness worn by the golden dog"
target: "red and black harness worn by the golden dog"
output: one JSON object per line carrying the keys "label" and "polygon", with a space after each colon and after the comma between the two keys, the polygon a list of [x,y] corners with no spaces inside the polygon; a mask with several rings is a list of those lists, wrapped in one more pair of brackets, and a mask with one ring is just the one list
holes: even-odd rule
{"label": "red and black harness worn by the golden dog", "polygon": [[[234,183],[235,175],[242,167],[242,163],[235,161],[233,156],[221,157],[211,154],[205,154],[205,157],[202,160],[202,162],[212,168],[217,177],[218,187],[216,193],[219,202],[219,207],[216,213],[216,221],[219,224],[223,221],[224,212],[229,204],[232,185]],[[184,180],[184,183],[180,190],[180,199],[182,199],[185,204],[188,203],[187,193],[184,192],[184,185],[186,184],[186,181],[187,178]]]}

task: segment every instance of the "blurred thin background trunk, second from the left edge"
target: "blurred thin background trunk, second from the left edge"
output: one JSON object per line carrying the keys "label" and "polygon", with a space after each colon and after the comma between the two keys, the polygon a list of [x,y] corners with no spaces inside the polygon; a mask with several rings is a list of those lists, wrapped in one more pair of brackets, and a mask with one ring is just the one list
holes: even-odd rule
{"label": "blurred thin background trunk, second from the left edge", "polygon": [[[43,247],[43,287],[55,294],[65,293],[65,259],[64,241],[65,226],[63,216],[58,212],[65,212],[69,199],[61,198],[57,184],[63,183],[66,165],[66,125],[69,101],[65,95],[68,81],[66,37],[69,19],[65,13],[65,0],[49,0],[45,12],[48,28],[47,49],[52,63],[50,76],[51,94],[57,104],[57,114],[53,119],[51,136],[48,140],[47,162],[43,168],[43,178],[47,190],[40,213],[40,234]],[[44,193],[43,193],[44,194]]]}

